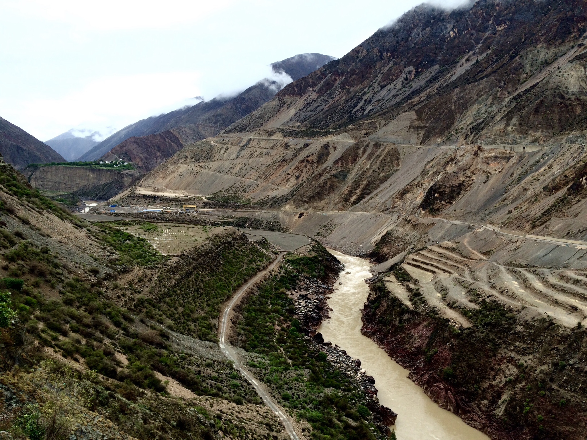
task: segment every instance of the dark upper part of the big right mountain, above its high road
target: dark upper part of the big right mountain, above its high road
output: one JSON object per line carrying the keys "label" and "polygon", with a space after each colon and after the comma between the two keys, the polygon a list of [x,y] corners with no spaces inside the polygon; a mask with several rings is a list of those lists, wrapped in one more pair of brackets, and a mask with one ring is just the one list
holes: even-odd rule
{"label": "dark upper part of the big right mountain, above its high road", "polygon": [[[583,130],[583,2],[419,6],[227,132],[345,129],[397,143],[544,143]],[[347,128],[348,130],[348,128]],[[583,137],[581,137],[583,139]]]}

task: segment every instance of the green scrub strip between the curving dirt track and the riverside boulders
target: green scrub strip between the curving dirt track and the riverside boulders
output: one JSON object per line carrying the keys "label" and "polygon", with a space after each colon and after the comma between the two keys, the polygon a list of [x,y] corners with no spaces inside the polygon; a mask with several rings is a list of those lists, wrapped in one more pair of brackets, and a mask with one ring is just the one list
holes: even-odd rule
{"label": "green scrub strip between the curving dirt track and the riverside boulders", "polygon": [[279,404],[312,425],[311,438],[373,439],[378,431],[364,405],[365,397],[330,365],[318,346],[304,339],[286,292],[303,274],[324,276],[328,262],[321,261],[323,252],[311,258],[290,255],[289,268],[284,266],[239,306],[238,344],[264,356],[249,367],[271,388]]}

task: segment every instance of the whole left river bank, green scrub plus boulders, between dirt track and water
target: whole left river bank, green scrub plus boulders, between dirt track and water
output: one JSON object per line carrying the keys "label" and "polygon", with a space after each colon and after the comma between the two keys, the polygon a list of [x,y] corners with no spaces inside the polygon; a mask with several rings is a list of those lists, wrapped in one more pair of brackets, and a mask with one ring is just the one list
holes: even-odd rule
{"label": "whole left river bank, green scrub plus boulders, between dirt track and water", "polygon": [[[373,394],[339,367],[344,353],[309,336],[315,331],[312,323],[321,319],[311,306],[325,304],[340,269],[338,260],[315,241],[286,253],[279,271],[268,274],[235,305],[230,343],[242,349],[242,363],[284,415],[299,424],[300,439],[386,440],[386,414],[374,411],[380,407]],[[337,352],[330,356],[330,349]]]}

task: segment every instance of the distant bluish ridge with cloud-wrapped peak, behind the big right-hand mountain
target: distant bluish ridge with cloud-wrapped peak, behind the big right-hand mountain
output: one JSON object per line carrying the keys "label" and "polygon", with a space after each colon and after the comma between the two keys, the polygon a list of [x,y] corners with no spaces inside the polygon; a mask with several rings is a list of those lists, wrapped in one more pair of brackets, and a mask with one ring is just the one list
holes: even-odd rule
{"label": "distant bluish ridge with cloud-wrapped peak, behind the big right-hand mountain", "polygon": [[[275,73],[286,73],[293,80],[296,80],[333,59],[335,58],[332,56],[319,53],[303,53],[276,62],[272,67]],[[234,121],[258,109],[259,106],[271,99],[282,86],[283,84],[275,80],[264,79],[235,97],[218,96],[192,107],[140,120],[106,138],[95,148],[82,155],[79,160],[96,160],[131,136],[147,136],[174,127],[187,126],[180,133],[177,133],[184,142],[193,142],[214,136]],[[130,151],[129,154],[131,154]]]}

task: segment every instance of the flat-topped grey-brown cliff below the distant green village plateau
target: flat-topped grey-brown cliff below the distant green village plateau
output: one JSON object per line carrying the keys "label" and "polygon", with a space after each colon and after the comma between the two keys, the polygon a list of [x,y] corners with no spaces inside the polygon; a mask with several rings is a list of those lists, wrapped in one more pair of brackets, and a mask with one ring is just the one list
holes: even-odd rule
{"label": "flat-topped grey-brown cliff below the distant green village plateau", "polygon": [[114,197],[139,177],[137,171],[68,166],[29,167],[24,173],[35,188],[94,200]]}

